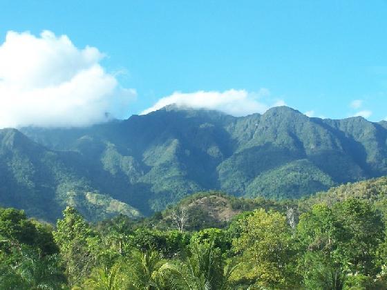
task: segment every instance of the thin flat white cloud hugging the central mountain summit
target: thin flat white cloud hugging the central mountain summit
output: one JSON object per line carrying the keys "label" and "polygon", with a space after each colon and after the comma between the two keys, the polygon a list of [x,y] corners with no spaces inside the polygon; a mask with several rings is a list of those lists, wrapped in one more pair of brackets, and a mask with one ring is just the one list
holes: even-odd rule
{"label": "thin flat white cloud hugging the central mountain summit", "polygon": [[234,116],[244,116],[252,113],[264,113],[272,106],[282,106],[284,101],[276,101],[270,106],[260,99],[270,96],[267,88],[261,88],[256,93],[249,93],[246,90],[225,90],[218,91],[198,91],[195,93],[175,92],[168,97],[163,97],[157,101],[151,108],[142,111],[142,115],[151,113],[164,106],[176,104],[181,107],[205,108],[211,110],[221,110]]}

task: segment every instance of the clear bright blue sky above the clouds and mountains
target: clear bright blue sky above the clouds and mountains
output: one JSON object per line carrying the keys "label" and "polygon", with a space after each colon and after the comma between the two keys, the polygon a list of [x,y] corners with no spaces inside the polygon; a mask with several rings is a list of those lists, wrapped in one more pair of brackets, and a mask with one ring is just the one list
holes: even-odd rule
{"label": "clear bright blue sky above the clouds and mountains", "polygon": [[50,30],[105,54],[106,73],[136,91],[127,116],[175,92],[234,89],[315,117],[387,117],[387,1],[0,3],[0,43]]}

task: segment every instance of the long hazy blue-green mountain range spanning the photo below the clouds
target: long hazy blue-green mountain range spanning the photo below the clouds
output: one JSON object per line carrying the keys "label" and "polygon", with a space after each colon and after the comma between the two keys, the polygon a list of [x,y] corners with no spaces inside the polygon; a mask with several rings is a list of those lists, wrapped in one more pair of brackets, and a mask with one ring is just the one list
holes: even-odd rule
{"label": "long hazy blue-green mountain range spanning the photo below the clouds", "polygon": [[246,117],[167,106],[88,128],[0,132],[23,139],[23,148],[1,149],[0,202],[27,209],[20,197],[41,197],[53,217],[73,191],[86,204],[91,192],[148,215],[197,191],[299,198],[387,175],[387,122],[309,118],[285,106]]}

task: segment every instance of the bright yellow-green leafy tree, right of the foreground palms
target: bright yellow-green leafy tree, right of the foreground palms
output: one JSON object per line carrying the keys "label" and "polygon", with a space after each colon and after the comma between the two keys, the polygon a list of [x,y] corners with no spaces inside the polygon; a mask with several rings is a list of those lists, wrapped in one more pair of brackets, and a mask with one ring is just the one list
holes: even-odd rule
{"label": "bright yellow-green leafy tree, right of the foreground palms", "polygon": [[260,209],[240,220],[240,226],[234,250],[240,253],[245,267],[236,271],[236,278],[247,278],[263,287],[296,287],[292,264],[296,251],[286,218]]}

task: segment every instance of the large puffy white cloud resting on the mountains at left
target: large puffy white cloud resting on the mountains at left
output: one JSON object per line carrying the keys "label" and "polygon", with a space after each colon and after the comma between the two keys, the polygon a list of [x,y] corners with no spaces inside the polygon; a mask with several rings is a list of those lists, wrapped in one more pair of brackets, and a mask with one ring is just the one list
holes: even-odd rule
{"label": "large puffy white cloud resting on the mountains at left", "polygon": [[0,128],[87,126],[109,114],[122,117],[135,90],[120,87],[100,65],[103,57],[50,31],[8,32],[0,46]]}

